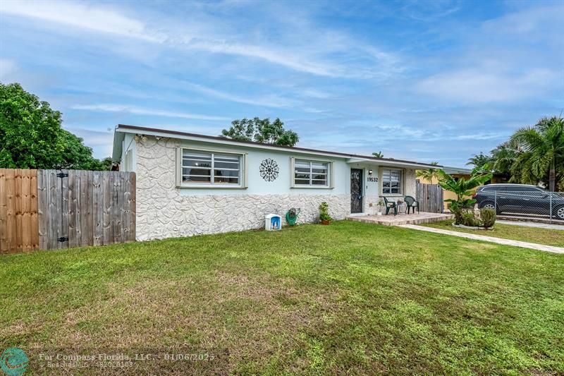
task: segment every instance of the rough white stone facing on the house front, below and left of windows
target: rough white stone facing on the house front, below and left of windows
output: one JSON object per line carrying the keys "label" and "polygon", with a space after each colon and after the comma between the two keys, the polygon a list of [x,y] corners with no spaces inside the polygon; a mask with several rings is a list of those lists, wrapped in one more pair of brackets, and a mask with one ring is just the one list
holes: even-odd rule
{"label": "rough white stone facing on the house front, below and left of windows", "polygon": [[[264,215],[301,209],[298,223],[314,222],[319,203],[335,219],[350,213],[349,195],[185,195],[176,188],[178,140],[149,137],[137,144],[137,240],[264,228]],[[209,190],[213,193],[213,190]],[[283,220],[285,223],[285,221]]]}

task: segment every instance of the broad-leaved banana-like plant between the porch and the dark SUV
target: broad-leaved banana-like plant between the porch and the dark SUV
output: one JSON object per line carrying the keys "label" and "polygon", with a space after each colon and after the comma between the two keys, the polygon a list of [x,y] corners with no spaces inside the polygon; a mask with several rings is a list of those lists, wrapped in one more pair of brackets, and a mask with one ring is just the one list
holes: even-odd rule
{"label": "broad-leaved banana-like plant between the porch and the dark SUV", "polygon": [[468,198],[474,192],[474,188],[482,186],[482,184],[489,181],[493,174],[487,171],[489,169],[488,164],[482,167],[475,167],[470,173],[470,178],[466,180],[464,177],[454,178],[450,174],[446,174],[443,170],[438,170],[439,174],[439,185],[444,190],[449,190],[455,193],[456,200],[449,198],[445,202],[449,202],[448,208],[455,215],[455,223],[463,224],[463,213],[466,209],[471,209],[476,203],[473,198]]}

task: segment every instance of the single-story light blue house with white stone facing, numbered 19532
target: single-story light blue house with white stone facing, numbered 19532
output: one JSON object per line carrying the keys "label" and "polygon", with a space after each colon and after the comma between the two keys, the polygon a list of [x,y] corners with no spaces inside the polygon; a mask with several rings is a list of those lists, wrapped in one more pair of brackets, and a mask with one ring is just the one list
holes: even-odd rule
{"label": "single-story light blue house with white stone facing, numbered 19532", "polygon": [[314,222],[323,201],[335,219],[375,214],[383,195],[415,197],[415,169],[432,167],[125,125],[112,158],[137,175],[138,240],[258,229],[291,207]]}

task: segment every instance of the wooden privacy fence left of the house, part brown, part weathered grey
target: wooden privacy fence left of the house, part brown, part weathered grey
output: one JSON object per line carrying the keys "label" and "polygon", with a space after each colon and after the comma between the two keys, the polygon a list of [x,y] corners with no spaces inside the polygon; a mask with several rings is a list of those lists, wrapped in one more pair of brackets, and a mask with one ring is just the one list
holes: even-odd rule
{"label": "wooden privacy fence left of the house, part brown, part weathered grey", "polygon": [[135,241],[135,173],[0,169],[0,252]]}

